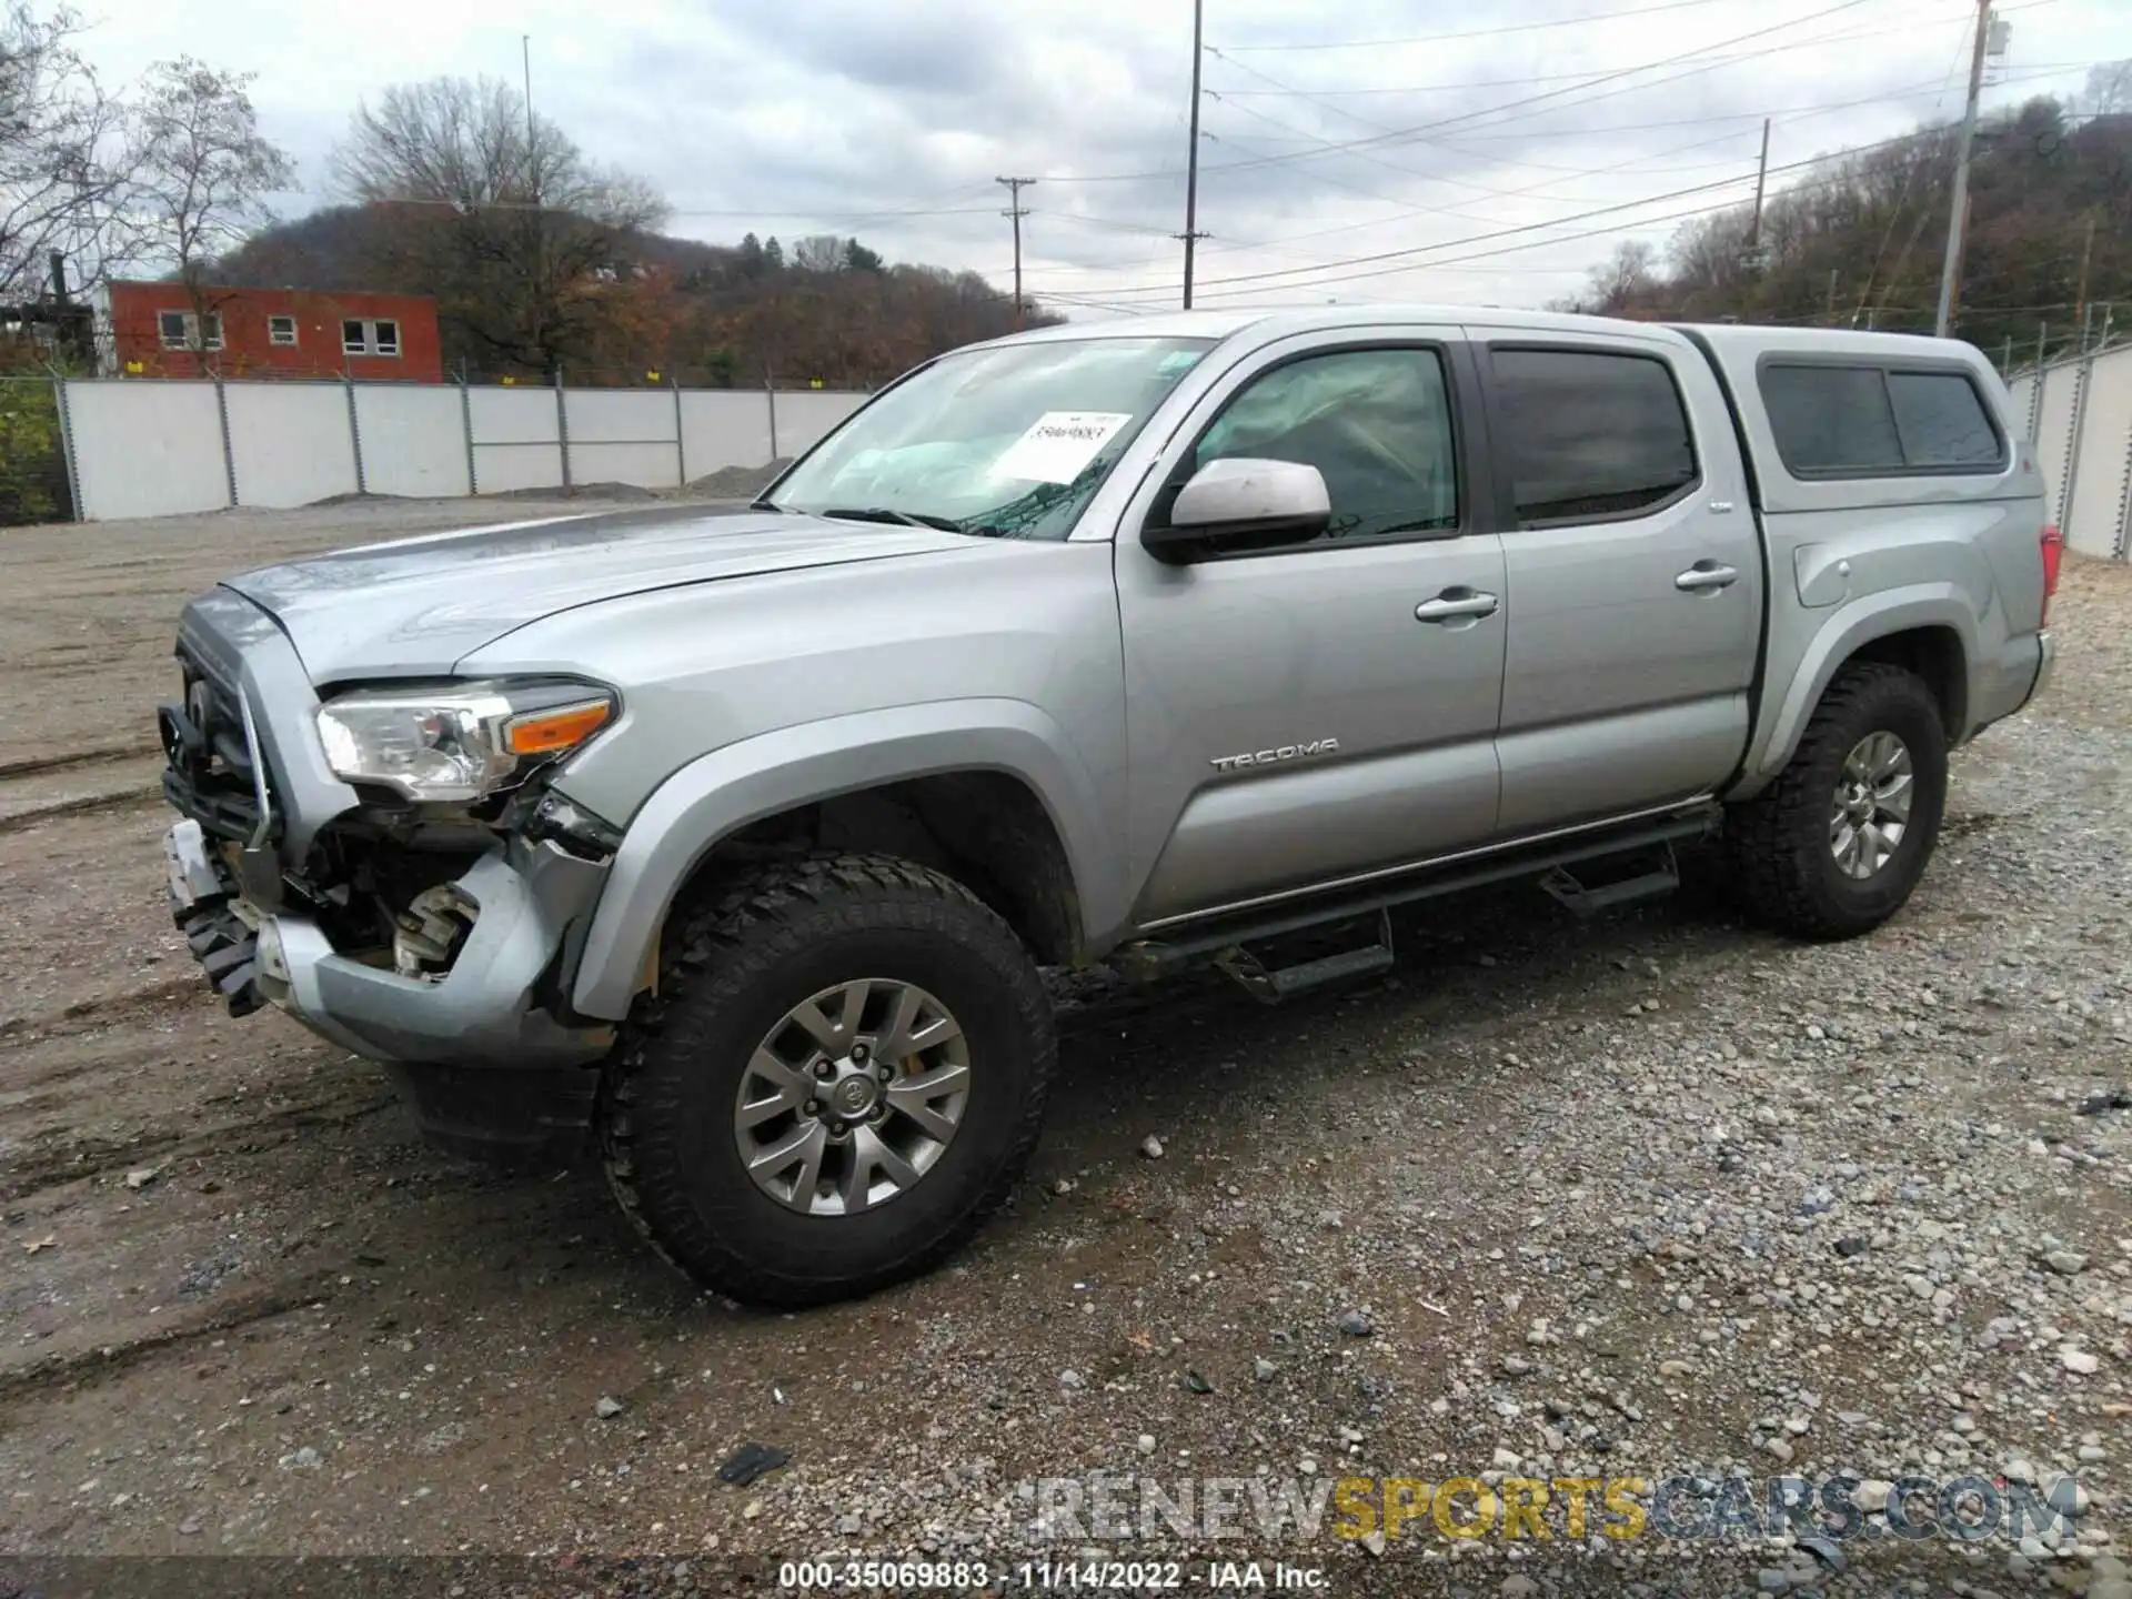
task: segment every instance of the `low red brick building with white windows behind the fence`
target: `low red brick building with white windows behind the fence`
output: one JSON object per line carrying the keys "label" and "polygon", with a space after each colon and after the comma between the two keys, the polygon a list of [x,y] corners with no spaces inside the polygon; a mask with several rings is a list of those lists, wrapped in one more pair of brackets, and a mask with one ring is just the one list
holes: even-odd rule
{"label": "low red brick building with white windows behind the fence", "polygon": [[[369,290],[209,288],[205,316],[179,284],[96,294],[109,377],[371,377],[443,382],[437,301]],[[203,326],[205,324],[205,326]]]}

